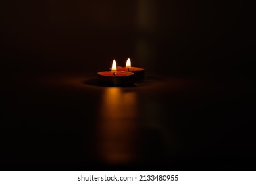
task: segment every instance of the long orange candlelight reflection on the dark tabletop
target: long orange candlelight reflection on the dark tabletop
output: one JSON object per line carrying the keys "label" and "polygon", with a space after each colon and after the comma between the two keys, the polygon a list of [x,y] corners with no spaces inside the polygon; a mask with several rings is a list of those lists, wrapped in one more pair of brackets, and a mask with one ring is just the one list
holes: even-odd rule
{"label": "long orange candlelight reflection on the dark tabletop", "polygon": [[136,159],[138,97],[134,91],[106,88],[97,136],[99,157],[107,164],[126,164]]}

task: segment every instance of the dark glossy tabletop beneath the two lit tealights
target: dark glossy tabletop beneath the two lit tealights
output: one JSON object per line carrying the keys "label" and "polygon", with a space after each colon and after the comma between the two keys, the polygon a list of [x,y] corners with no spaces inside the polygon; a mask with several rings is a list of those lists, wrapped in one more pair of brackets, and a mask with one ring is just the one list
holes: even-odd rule
{"label": "dark glossy tabletop beneath the two lit tealights", "polygon": [[[15,80],[14,80],[15,79]],[[1,170],[255,170],[253,85],[93,74],[3,81]]]}

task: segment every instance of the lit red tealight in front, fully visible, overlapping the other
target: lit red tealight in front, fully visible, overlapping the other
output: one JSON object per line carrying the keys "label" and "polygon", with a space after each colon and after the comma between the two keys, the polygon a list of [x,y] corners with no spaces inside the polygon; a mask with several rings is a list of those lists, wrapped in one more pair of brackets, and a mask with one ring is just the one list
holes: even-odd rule
{"label": "lit red tealight in front, fully visible, overlapping the other", "polygon": [[134,81],[133,72],[117,71],[116,61],[113,60],[111,71],[98,72],[98,80],[100,83],[110,85],[127,85]]}

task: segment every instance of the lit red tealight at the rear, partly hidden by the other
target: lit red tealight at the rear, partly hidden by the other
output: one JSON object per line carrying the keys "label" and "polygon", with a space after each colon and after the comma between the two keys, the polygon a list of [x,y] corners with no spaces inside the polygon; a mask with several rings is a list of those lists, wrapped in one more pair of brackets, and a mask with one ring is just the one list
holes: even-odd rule
{"label": "lit red tealight at the rear, partly hidden by the other", "polygon": [[[112,70],[112,68],[111,68]],[[133,72],[134,73],[134,80],[135,81],[142,81],[144,79],[144,68],[132,67],[131,60],[128,58],[126,61],[126,67],[117,66],[117,71],[126,71],[126,72]]]}

